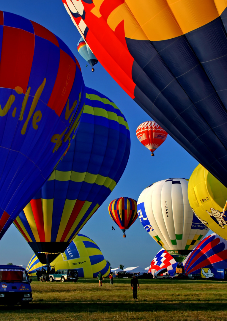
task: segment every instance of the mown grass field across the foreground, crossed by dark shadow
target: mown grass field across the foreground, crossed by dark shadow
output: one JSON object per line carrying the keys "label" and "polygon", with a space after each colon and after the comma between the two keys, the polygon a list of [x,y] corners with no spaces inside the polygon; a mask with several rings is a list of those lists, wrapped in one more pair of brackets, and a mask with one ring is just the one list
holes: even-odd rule
{"label": "mown grass field across the foreground, crossed by dark shadow", "polygon": [[227,282],[139,280],[138,300],[130,279],[102,287],[98,280],[33,282],[27,308],[0,306],[1,321],[52,320],[227,320]]}

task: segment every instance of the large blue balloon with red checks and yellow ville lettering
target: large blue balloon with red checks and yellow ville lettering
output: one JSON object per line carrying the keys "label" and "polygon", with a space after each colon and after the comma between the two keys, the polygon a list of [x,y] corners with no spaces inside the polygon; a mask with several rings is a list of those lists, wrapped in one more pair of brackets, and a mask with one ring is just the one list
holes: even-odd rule
{"label": "large blue balloon with red checks and yellow ville lettering", "polygon": [[80,66],[46,28],[0,11],[0,239],[76,134]]}

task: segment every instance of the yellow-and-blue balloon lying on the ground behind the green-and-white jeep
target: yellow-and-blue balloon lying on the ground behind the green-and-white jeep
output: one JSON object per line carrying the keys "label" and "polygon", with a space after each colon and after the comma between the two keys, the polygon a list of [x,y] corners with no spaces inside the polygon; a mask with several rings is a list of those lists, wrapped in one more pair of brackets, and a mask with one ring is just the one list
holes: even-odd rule
{"label": "yellow-and-blue balloon lying on the ground behind the green-and-white jeep", "polygon": [[[36,270],[42,268],[38,257],[34,254],[26,268],[28,274],[36,275]],[[97,278],[101,271],[104,277],[110,273],[109,263],[104,259],[98,245],[89,237],[77,234],[66,248],[65,252],[57,256],[51,266],[58,269],[76,269],[80,278]]]}

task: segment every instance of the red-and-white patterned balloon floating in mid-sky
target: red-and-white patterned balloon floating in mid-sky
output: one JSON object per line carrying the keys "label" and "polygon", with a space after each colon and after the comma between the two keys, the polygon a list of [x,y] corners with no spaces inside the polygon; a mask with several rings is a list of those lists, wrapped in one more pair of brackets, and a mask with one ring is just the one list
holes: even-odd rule
{"label": "red-and-white patterned balloon floating in mid-sky", "polygon": [[151,151],[151,156],[154,156],[154,151],[162,145],[167,135],[166,131],[153,120],[140,124],[136,129],[138,140]]}

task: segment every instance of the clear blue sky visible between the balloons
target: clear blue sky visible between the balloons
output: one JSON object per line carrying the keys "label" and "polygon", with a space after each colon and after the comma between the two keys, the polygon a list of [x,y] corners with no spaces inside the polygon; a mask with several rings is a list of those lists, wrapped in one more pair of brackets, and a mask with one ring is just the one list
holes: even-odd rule
{"label": "clear blue sky visible between the balloons", "polygon": [[[148,185],[167,178],[189,178],[198,162],[193,159],[169,135],[155,152],[155,157],[136,137],[136,128],[151,118],[121,89],[100,65],[91,72],[90,66],[77,52],[80,34],[76,30],[61,0],[0,0],[0,10],[16,13],[33,20],[60,37],[78,59],[85,85],[105,94],[125,115],[131,135],[131,152],[126,170],[118,185],[85,224],[81,233],[93,239],[100,247],[112,268],[124,264],[125,267],[150,265],[153,257],[161,249],[144,230],[139,219],[126,231],[122,231],[112,221],[108,213],[110,201],[121,196],[138,199]],[[115,231],[112,231],[112,226]],[[33,251],[16,227],[12,225],[0,241],[0,264],[12,262],[27,265]]]}

